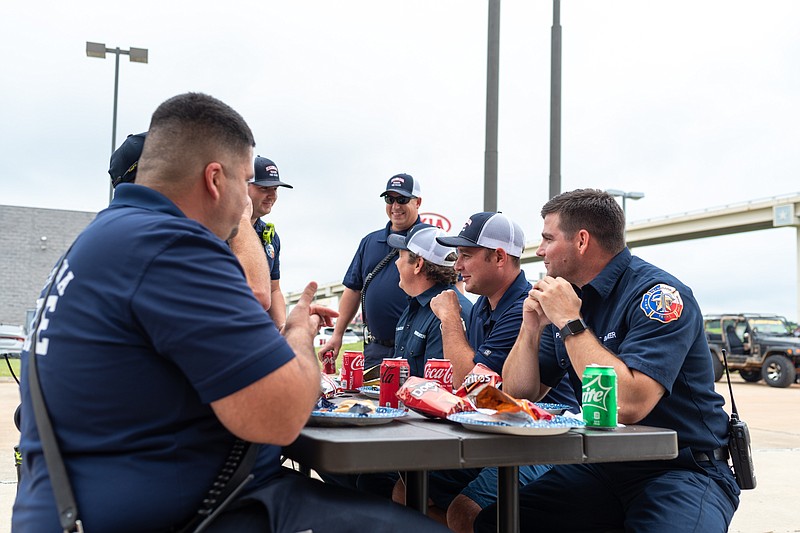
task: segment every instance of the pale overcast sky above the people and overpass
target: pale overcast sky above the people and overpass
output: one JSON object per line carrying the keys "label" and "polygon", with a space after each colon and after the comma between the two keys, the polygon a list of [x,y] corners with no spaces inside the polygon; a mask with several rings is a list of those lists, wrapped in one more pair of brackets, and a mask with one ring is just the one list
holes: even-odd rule
{"label": "pale overcast sky above the people and overpass", "polygon": [[[378,195],[407,172],[457,232],[483,210],[487,2],[7,3],[0,33],[0,204],[108,203],[117,144],[165,99],[211,94],[250,124],[281,179],[270,220],[285,291],[341,281]],[[800,2],[564,0],[562,189],[641,191],[629,220],[800,191]],[[552,2],[504,0],[499,209],[538,240],[549,175]],[[634,253],[690,285],[704,312],[797,318],[795,230]],[[541,270],[526,267],[530,278]]]}

